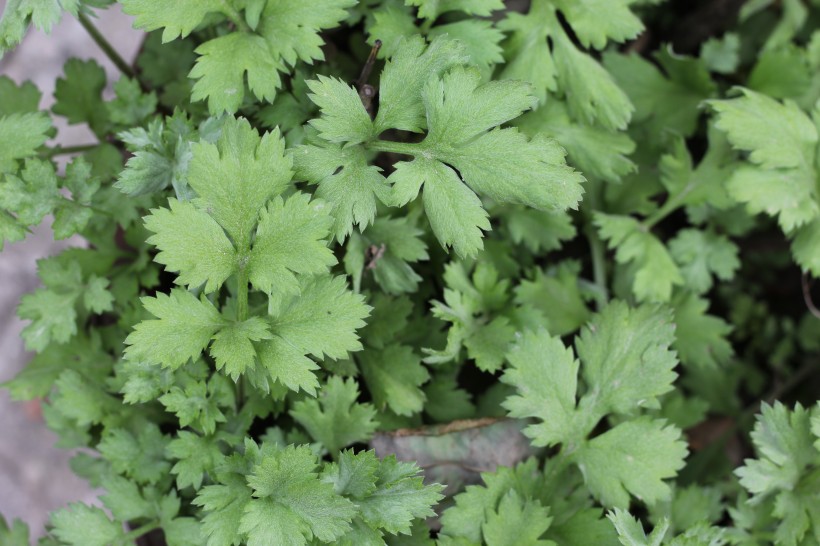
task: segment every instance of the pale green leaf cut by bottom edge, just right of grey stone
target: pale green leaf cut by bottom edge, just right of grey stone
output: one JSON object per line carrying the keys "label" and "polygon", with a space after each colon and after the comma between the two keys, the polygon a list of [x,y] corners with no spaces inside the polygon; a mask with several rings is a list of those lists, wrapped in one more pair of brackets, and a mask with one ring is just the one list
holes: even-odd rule
{"label": "pale green leaf cut by bottom edge, just right of grey stone", "polygon": [[122,524],[111,521],[100,508],[80,502],[70,503],[51,515],[52,533],[71,546],[111,546],[122,544]]}

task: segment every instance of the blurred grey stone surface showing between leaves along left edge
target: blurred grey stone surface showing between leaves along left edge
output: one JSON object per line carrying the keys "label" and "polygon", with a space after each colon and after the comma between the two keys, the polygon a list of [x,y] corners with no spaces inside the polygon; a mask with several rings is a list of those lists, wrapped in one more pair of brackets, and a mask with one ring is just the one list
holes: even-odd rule
{"label": "blurred grey stone surface showing between leaves along left edge", "polygon": [[[0,0],[0,11],[5,8]],[[101,12],[98,28],[125,59],[135,54],[141,34],[131,29],[131,18],[117,9]],[[53,102],[52,93],[62,66],[70,57],[95,58],[106,69],[109,81],[119,78],[85,30],[71,16],[55,26],[50,36],[32,29],[23,43],[0,60],[0,75],[33,81],[43,92],[41,108]],[[55,118],[63,145],[93,142],[91,133],[67,126]],[[36,260],[58,253],[80,239],[54,241],[49,222],[44,222],[25,241],[6,245],[0,252],[0,382],[21,369],[30,354],[25,352],[20,331],[25,324],[15,316],[20,296],[37,287]],[[54,447],[56,437],[38,416],[37,406],[12,402],[0,389],[0,514],[7,520],[20,518],[31,526],[33,537],[42,535],[48,512],[74,500],[94,502],[96,492],[75,477],[68,467],[71,453]]]}

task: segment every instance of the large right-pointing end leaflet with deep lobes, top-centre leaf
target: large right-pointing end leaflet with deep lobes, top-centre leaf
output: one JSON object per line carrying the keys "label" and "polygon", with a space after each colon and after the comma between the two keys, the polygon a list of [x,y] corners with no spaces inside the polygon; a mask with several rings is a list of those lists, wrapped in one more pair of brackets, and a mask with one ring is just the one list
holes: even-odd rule
{"label": "large right-pointing end leaflet with deep lobes, top-centre leaf", "polygon": [[[528,141],[515,129],[490,131],[533,106],[529,86],[479,81],[477,71],[463,68],[430,80],[422,92],[427,137],[402,150],[416,159],[396,164],[388,178],[397,205],[415,199],[424,184],[433,231],[443,246],[453,246],[460,256],[482,248],[480,230],[489,230],[489,223],[459,174],[472,190],[495,201],[541,210],[574,208],[583,192],[583,178],[565,165],[564,152],[554,142],[540,137]],[[471,115],[464,116],[465,111]]]}

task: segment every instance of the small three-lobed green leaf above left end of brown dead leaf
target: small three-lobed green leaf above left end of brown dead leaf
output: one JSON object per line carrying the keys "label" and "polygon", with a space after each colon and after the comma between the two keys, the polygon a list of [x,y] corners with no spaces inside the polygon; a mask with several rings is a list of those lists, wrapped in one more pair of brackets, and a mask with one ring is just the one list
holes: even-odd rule
{"label": "small three-lobed green leaf above left end of brown dead leaf", "polygon": [[333,376],[318,398],[296,402],[290,415],[335,456],[343,447],[369,439],[376,430],[376,410],[357,402],[358,397],[355,379]]}

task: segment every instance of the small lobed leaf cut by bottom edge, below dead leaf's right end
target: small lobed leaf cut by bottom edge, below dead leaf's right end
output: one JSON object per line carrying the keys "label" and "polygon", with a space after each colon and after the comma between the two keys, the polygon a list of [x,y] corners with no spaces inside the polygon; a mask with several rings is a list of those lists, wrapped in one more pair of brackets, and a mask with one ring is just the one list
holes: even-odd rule
{"label": "small lobed leaf cut by bottom edge, below dead leaf's right end", "polygon": [[515,490],[501,497],[498,510],[487,513],[482,526],[487,546],[555,546],[551,540],[539,540],[549,528],[549,509],[537,500],[522,499]]}

